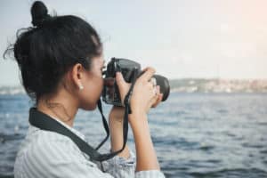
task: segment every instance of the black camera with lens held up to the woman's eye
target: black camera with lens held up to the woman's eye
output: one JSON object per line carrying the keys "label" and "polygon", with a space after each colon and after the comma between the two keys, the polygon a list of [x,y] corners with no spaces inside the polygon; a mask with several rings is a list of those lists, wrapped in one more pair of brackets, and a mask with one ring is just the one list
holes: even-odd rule
{"label": "black camera with lens held up to the woman's eye", "polygon": [[[102,100],[107,104],[123,106],[116,84],[116,72],[121,72],[125,82],[133,83],[137,77],[142,75],[141,65],[135,61],[127,59],[112,58],[107,65],[107,70],[103,71],[104,87],[101,93]],[[169,81],[160,75],[153,76],[157,85],[160,86],[160,93],[163,93],[162,101],[166,101],[170,93]]]}

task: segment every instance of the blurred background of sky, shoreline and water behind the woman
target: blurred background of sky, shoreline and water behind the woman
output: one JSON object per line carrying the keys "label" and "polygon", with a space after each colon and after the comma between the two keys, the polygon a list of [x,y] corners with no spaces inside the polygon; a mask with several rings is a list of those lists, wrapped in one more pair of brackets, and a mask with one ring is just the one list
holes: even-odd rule
{"label": "blurred background of sky, shoreline and water behind the woman", "polygon": [[[0,2],[1,54],[19,28],[31,27],[33,2]],[[166,177],[267,177],[267,1],[43,2],[50,14],[92,24],[106,61],[138,61],[170,79],[169,99],[150,111]],[[12,177],[32,106],[7,58],[0,57],[1,178]],[[107,116],[110,106],[104,109]],[[81,110],[75,127],[96,144],[104,136],[100,118]],[[132,135],[129,143],[134,150]]]}

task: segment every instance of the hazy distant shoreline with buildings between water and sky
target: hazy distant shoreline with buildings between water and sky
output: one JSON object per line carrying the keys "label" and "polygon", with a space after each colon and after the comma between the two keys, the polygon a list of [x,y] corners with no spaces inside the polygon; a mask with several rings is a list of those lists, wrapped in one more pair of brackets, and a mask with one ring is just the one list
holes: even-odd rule
{"label": "hazy distant shoreline with buildings between water and sky", "polygon": [[[267,79],[204,79],[170,80],[171,93],[267,93]],[[0,86],[0,94],[26,94],[21,85]]]}

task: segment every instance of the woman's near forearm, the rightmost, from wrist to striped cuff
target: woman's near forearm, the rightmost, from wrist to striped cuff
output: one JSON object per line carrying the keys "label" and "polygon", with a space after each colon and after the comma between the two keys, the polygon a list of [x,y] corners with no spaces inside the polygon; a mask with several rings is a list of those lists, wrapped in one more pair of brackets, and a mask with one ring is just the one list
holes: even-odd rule
{"label": "woman's near forearm, the rightmost, from wrist to striped cuff", "polygon": [[[132,115],[140,122],[131,123],[136,150],[136,172],[145,170],[159,170],[158,158],[150,137],[150,128],[146,115]],[[133,119],[132,119],[133,120]]]}

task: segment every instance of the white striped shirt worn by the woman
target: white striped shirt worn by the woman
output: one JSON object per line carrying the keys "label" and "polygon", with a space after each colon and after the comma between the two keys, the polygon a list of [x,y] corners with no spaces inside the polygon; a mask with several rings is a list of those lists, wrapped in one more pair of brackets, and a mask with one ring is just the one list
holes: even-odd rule
{"label": "white striped shirt worn by the woman", "polygon": [[[57,121],[85,140],[85,135],[60,120]],[[102,163],[104,172],[102,172],[100,164],[93,163],[69,137],[29,125],[26,138],[17,154],[14,175],[15,178],[165,177],[158,170],[134,173],[135,165],[134,153],[130,151],[130,158],[116,156],[104,161]]]}

